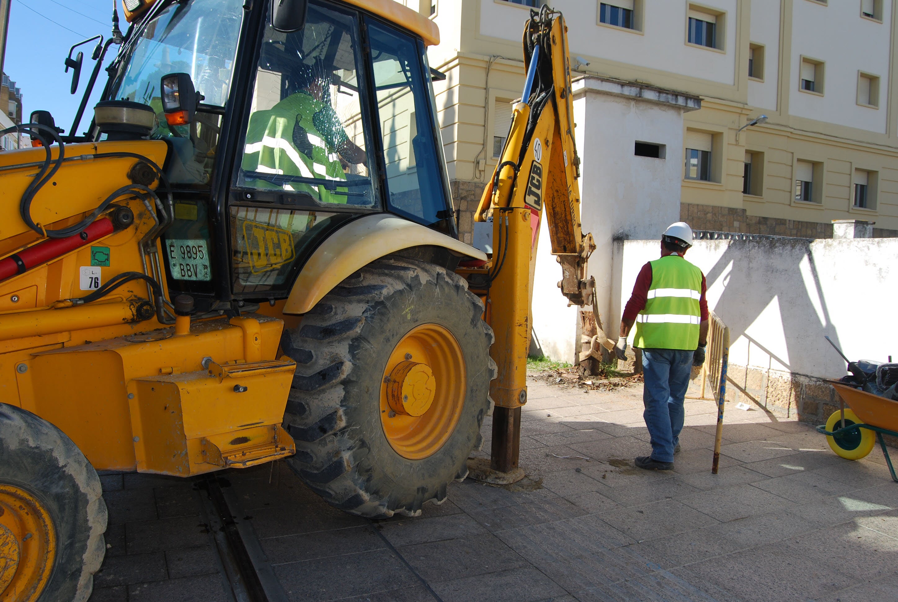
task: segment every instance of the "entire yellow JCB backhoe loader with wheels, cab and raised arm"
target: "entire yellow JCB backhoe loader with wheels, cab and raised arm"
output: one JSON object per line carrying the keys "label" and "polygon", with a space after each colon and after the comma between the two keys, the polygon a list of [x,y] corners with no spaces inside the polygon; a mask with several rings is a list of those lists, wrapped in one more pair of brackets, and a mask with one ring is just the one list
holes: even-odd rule
{"label": "entire yellow JCB backhoe loader with wheels, cab and raised arm", "polygon": [[514,479],[543,216],[561,292],[592,295],[560,14],[524,31],[488,255],[457,240],[433,22],[392,0],[122,5],[128,31],[83,43],[69,135],[36,111],[34,147],[0,153],[0,598],[90,596],[96,471],[286,458],[337,508],[414,516],[468,474],[495,400],[485,478]]}

